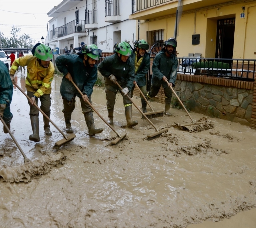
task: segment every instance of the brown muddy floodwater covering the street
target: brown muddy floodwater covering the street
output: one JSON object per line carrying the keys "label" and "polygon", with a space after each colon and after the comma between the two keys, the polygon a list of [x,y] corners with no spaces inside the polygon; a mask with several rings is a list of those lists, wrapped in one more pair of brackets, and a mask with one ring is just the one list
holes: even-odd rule
{"label": "brown muddy floodwater covering the street", "polygon": [[[16,73],[23,90],[25,74]],[[66,134],[61,79],[56,75],[52,83],[51,120]],[[141,108],[140,99],[132,99]],[[111,145],[117,135],[95,112],[95,126],[104,130],[89,137],[80,101],[76,101],[71,120],[76,137],[56,147],[63,136],[52,124],[52,136],[45,136],[40,113],[41,141],[35,143],[29,141],[27,99],[14,87],[11,132],[34,166],[24,164],[1,124],[0,227],[256,227],[255,130],[209,118],[212,129],[190,133],[172,126],[191,120],[184,110],[171,108],[172,117],[151,119],[168,132],[149,141],[147,135],[155,133],[155,128],[141,119],[134,106],[133,119],[139,124],[125,127],[119,94],[113,127],[127,136]],[[155,110],[164,109],[163,104],[151,104]],[[94,89],[92,105],[108,119],[103,87]],[[190,115],[194,120],[204,117]]]}

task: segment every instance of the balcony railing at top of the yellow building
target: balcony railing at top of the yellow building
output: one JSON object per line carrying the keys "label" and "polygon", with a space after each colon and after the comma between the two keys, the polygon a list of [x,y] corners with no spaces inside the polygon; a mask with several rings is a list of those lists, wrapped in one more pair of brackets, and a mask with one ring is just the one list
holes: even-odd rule
{"label": "balcony railing at top of the yellow building", "polygon": [[171,2],[174,0],[132,0],[132,14],[146,10],[151,7],[159,6],[163,3]]}

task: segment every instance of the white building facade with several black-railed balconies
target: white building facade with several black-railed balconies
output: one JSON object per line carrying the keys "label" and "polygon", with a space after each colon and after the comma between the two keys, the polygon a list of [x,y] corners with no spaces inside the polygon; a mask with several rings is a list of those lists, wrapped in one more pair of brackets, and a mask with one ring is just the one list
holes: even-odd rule
{"label": "white building facade with several black-railed balconies", "polygon": [[[49,36],[45,43],[52,49],[71,50],[81,42],[95,44],[104,53],[112,53],[117,42],[133,47],[138,26],[129,20],[132,0],[63,0],[47,13]],[[143,38],[142,38],[143,39]]]}

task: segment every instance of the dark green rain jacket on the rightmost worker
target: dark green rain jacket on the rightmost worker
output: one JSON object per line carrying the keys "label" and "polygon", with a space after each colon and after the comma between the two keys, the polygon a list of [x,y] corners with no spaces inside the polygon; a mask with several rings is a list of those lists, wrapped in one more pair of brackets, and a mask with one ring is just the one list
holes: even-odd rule
{"label": "dark green rain jacket on the rightmost worker", "polygon": [[166,88],[168,85],[162,80],[163,76],[166,76],[168,82],[175,85],[176,77],[177,77],[177,67],[178,67],[178,59],[173,54],[170,57],[165,55],[165,52],[159,52],[153,62],[152,65],[152,79],[151,84],[155,86],[163,86]]}

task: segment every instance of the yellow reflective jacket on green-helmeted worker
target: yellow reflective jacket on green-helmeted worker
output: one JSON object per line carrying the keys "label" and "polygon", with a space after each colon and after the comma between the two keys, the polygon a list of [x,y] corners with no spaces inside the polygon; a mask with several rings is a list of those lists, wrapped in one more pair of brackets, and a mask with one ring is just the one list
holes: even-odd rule
{"label": "yellow reflective jacket on green-helmeted worker", "polygon": [[36,97],[52,92],[54,66],[51,61],[49,67],[44,68],[39,64],[37,57],[33,55],[19,57],[12,63],[10,74],[14,75],[19,66],[27,66],[27,91],[33,92]]}

